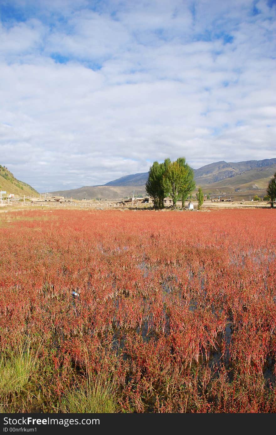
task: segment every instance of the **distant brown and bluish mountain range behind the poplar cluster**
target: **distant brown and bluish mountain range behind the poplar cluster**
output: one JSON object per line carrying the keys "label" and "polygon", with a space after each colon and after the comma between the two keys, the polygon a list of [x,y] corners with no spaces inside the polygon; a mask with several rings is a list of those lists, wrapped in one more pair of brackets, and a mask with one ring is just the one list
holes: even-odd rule
{"label": "distant brown and bluish mountain range behind the poplar cluster", "polygon": [[[204,193],[227,195],[242,199],[249,195],[264,195],[266,187],[276,172],[276,158],[242,162],[219,161],[194,169],[196,187]],[[75,199],[122,199],[146,195],[148,172],[125,175],[102,186],[86,186],[66,191],[50,192]]]}

